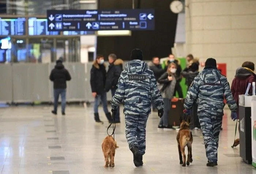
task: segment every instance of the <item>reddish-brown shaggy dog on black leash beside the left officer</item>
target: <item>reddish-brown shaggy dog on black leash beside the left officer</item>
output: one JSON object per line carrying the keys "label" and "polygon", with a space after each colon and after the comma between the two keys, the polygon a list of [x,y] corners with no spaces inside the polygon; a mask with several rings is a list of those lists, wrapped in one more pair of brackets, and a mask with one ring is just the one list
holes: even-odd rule
{"label": "reddish-brown shaggy dog on black leash beside the left officer", "polygon": [[106,138],[103,140],[101,147],[106,162],[105,167],[114,167],[114,156],[116,149],[118,148],[116,141],[114,141],[112,136],[106,136]]}

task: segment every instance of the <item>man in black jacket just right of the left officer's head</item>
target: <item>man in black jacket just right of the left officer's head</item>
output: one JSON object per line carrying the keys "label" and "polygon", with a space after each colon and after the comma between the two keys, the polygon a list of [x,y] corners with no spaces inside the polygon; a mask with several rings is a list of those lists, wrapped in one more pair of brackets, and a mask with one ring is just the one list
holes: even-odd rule
{"label": "man in black jacket just right of the left officer's head", "polygon": [[[158,80],[166,70],[162,69],[158,57],[153,57],[151,62],[148,62],[148,68],[153,71],[155,79]],[[157,112],[157,107],[152,103],[153,112]]]}

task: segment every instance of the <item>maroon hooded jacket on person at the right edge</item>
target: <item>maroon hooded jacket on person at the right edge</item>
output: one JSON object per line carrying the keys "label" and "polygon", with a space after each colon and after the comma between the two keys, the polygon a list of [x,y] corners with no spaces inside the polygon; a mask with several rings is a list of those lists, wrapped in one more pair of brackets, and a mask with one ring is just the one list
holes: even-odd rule
{"label": "maroon hooded jacket on person at the right edge", "polygon": [[[239,95],[245,94],[248,84],[252,82],[256,82],[256,75],[252,70],[244,67],[239,67],[236,70],[236,76],[231,85],[231,92],[237,105],[239,104]],[[249,93],[252,93],[252,85],[249,89]]]}

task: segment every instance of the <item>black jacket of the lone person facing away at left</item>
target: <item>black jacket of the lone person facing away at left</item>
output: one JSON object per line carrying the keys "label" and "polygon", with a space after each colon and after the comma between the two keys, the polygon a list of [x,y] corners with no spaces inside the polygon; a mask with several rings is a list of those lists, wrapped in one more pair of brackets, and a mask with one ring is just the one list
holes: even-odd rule
{"label": "black jacket of the lone person facing away at left", "polygon": [[50,81],[53,81],[53,89],[66,89],[66,81],[71,80],[71,76],[67,69],[65,69],[62,61],[56,61],[54,69],[50,73]]}

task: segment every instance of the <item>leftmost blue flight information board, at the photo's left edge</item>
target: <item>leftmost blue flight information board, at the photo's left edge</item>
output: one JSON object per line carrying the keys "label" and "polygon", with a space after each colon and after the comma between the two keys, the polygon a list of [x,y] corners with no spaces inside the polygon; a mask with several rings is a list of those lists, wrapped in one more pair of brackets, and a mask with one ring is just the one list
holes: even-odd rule
{"label": "leftmost blue flight information board, at the photo's left edge", "polygon": [[26,35],[26,18],[0,18],[0,35]]}

